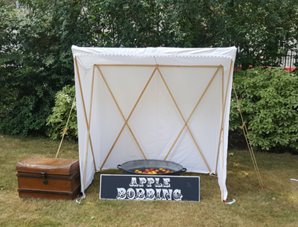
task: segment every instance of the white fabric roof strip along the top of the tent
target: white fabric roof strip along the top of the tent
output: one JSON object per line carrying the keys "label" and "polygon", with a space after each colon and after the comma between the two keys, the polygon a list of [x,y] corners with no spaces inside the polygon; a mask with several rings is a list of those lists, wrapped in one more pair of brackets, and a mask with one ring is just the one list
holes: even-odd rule
{"label": "white fabric roof strip along the top of the tent", "polygon": [[[96,64],[133,65],[220,65],[235,61],[236,48],[78,48],[72,46],[74,57],[84,66]],[[200,58],[200,60],[198,60]]]}

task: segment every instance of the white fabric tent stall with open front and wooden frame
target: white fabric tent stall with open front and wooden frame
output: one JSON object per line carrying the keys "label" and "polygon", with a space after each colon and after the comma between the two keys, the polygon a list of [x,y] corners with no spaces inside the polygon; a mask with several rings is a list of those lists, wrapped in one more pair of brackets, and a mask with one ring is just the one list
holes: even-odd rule
{"label": "white fabric tent stall with open front and wooden frame", "polygon": [[129,160],[218,176],[226,200],[236,48],[79,48],[75,61],[82,192]]}

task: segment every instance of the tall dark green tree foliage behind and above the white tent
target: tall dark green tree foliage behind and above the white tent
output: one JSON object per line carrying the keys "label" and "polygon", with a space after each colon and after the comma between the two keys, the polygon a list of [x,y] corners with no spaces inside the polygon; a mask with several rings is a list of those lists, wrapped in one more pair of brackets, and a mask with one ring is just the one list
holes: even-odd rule
{"label": "tall dark green tree foliage behind and above the white tent", "polygon": [[[71,46],[235,45],[236,65],[276,65],[296,48],[295,0],[21,0],[0,8],[0,133],[44,133],[55,94],[73,85]],[[263,60],[260,60],[263,57]]]}

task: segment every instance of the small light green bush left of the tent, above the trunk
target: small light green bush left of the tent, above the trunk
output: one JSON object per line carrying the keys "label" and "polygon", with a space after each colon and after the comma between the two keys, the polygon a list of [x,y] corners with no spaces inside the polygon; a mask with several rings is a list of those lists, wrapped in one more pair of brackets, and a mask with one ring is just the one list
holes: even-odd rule
{"label": "small light green bush left of the tent, above the trunk", "polygon": [[53,107],[53,114],[51,114],[47,119],[48,130],[46,132],[46,134],[53,140],[62,137],[62,132],[66,127],[69,116],[70,121],[68,122],[65,138],[77,140],[76,104],[74,104],[72,113],[70,114],[74,98],[75,86],[70,87],[70,85],[63,87],[62,91],[57,92],[55,95],[55,106]]}

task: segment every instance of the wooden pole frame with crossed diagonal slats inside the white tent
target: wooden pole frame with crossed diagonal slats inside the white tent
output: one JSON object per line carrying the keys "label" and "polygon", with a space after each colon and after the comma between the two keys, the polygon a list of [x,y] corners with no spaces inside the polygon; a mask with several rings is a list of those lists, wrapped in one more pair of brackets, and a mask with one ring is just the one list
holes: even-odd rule
{"label": "wooden pole frame with crossed diagonal slats inside the white tent", "polygon": [[[184,128],[187,128],[187,130],[189,131],[189,134],[192,137],[192,140],[194,140],[194,144],[197,147],[197,150],[199,150],[200,155],[202,156],[206,167],[208,168],[209,172],[211,172],[211,169],[208,165],[208,163],[206,162],[206,159],[202,153],[202,150],[199,148],[199,145],[197,143],[197,140],[194,138],[194,135],[192,134],[191,129],[188,126],[188,122],[190,120],[190,118],[192,118],[192,115],[194,114],[194,111],[196,111],[197,106],[199,106],[199,103],[202,101],[204,95],[206,94],[206,91],[209,89],[211,83],[214,81],[214,78],[216,77],[216,74],[218,74],[219,70],[221,70],[222,72],[222,98],[221,98],[221,106],[222,106],[222,116],[221,116],[221,128],[220,128],[220,135],[219,135],[219,146],[218,146],[218,151],[217,151],[217,157],[216,157],[216,171],[215,171],[215,175],[217,173],[217,165],[218,165],[218,160],[219,160],[219,149],[220,149],[220,145],[223,141],[223,118],[224,118],[224,113],[225,113],[225,108],[226,108],[226,98],[227,98],[227,94],[228,94],[228,86],[229,86],[229,82],[230,82],[230,77],[231,77],[231,67],[233,65],[233,60],[231,60],[231,65],[230,65],[230,69],[229,69],[229,74],[228,74],[228,84],[226,87],[226,94],[223,95],[223,65],[192,65],[192,66],[187,66],[187,65],[93,65],[93,72],[92,72],[92,92],[91,92],[91,101],[90,101],[90,111],[89,111],[89,120],[87,118],[87,112],[86,112],[86,106],[84,104],[84,96],[83,96],[83,92],[82,92],[82,84],[81,84],[81,79],[79,77],[79,67],[77,65],[77,57],[75,57],[75,65],[77,67],[77,75],[78,75],[78,80],[79,80],[79,89],[82,95],[82,104],[83,104],[83,108],[84,108],[84,116],[85,116],[85,121],[87,124],[87,131],[88,131],[88,135],[87,135],[87,148],[86,148],[86,162],[85,162],[85,168],[84,168],[84,187],[85,187],[85,180],[86,180],[86,170],[87,170],[87,157],[88,157],[88,150],[89,150],[89,143],[90,143],[90,147],[92,150],[92,156],[93,156],[93,162],[94,162],[94,169],[96,171],[96,165],[95,165],[95,159],[94,159],[94,151],[93,151],[93,146],[92,146],[92,140],[91,140],[91,136],[90,136],[90,126],[91,126],[91,113],[92,113],[92,99],[93,99],[93,89],[94,89],[94,70],[95,67],[97,68],[97,70],[99,70],[99,73],[101,74],[102,79],[104,80],[104,83],[106,84],[106,87],[109,89],[109,93],[111,94],[112,98],[114,99],[114,102],[118,108],[118,111],[120,112],[122,118],[123,118],[123,126],[121,128],[121,131],[118,133],[116,140],[114,141],[113,145],[111,146],[111,149],[109,150],[108,155],[106,155],[106,158],[104,160],[104,162],[102,163],[100,170],[102,170],[102,168],[104,167],[104,164],[106,163],[106,160],[109,158],[109,155],[111,154],[111,151],[114,149],[114,146],[116,145],[118,138],[120,137],[121,133],[123,132],[123,129],[125,128],[125,126],[127,126],[128,130],[131,132],[131,135],[133,136],[133,139],[135,140],[136,144],[138,145],[138,148],[140,149],[140,152],[142,153],[143,157],[145,159],[147,159],[147,157],[145,156],[142,148],[140,147],[140,144],[138,143],[138,140],[136,139],[136,136],[133,134],[133,131],[131,130],[131,127],[128,124],[129,119],[131,118],[131,115],[133,114],[133,111],[136,109],[136,106],[138,105],[138,102],[140,101],[140,98],[143,96],[145,89],[147,89],[148,84],[150,84],[151,79],[153,78],[153,75],[155,74],[156,71],[159,72],[160,77],[162,79],[162,82],[164,82],[165,87],[167,88],[167,92],[169,92],[172,101],[174,102],[177,111],[179,112],[182,121],[184,122],[184,126],[182,127],[179,135],[177,136],[177,138],[175,139],[175,142],[172,144],[170,150],[168,151],[167,155],[165,156],[165,159],[167,159],[168,155],[170,155],[170,152],[172,151],[172,148],[174,148],[175,144],[177,143],[177,140],[180,138],[180,135],[182,134],[182,132],[184,131]],[[109,84],[106,82],[106,78],[104,77],[104,74],[101,72],[101,68],[100,67],[155,67],[153,70],[153,73],[151,74],[150,78],[148,79],[148,82],[145,84],[145,87],[143,88],[143,91],[141,92],[140,96],[138,97],[138,100],[136,101],[136,104],[133,106],[133,109],[131,110],[131,113],[128,115],[128,118],[125,118],[125,116],[123,115],[123,112],[121,111],[118,102],[115,99],[115,96],[113,94],[113,92],[111,91],[111,88],[109,87]],[[184,118],[182,112],[180,111],[179,106],[177,105],[177,102],[175,101],[174,96],[172,95],[172,92],[170,91],[170,88],[167,86],[167,82],[165,81],[165,78],[162,75],[162,72],[160,72],[160,67],[205,67],[205,68],[216,68],[216,72],[214,73],[213,77],[211,78],[209,84],[206,86],[206,89],[204,89],[204,92],[202,94],[202,96],[199,98],[199,101],[197,101],[196,106],[194,106],[194,109],[192,110],[192,113],[190,114],[189,118],[187,118],[187,120]],[[221,157],[223,157],[223,145],[221,146]],[[221,169],[223,168],[223,158],[221,158]],[[221,199],[223,199],[223,170],[221,170]]]}

